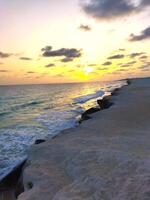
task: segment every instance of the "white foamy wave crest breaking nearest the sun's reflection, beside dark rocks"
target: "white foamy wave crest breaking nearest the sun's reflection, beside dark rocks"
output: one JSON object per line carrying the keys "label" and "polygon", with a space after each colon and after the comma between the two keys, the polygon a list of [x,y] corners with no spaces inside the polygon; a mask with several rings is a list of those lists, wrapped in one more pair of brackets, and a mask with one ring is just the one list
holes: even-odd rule
{"label": "white foamy wave crest breaking nearest the sun's reflection, beside dark rocks", "polygon": [[93,94],[83,95],[74,99],[75,103],[85,103],[91,99],[102,97],[105,94],[104,91],[100,90]]}

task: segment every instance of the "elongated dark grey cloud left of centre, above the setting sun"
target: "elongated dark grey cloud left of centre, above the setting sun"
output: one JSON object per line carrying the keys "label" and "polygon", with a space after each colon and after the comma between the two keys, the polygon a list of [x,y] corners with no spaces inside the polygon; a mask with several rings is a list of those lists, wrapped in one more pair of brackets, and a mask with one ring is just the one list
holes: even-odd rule
{"label": "elongated dark grey cloud left of centre, above the setting sun", "polygon": [[[81,50],[75,48],[61,48],[58,50],[52,50],[51,46],[46,46],[45,48],[41,49],[43,57],[64,57],[65,61],[72,61],[75,58],[81,57],[82,53]],[[63,59],[62,59],[63,61]],[[68,61],[69,62],[69,61]]]}

